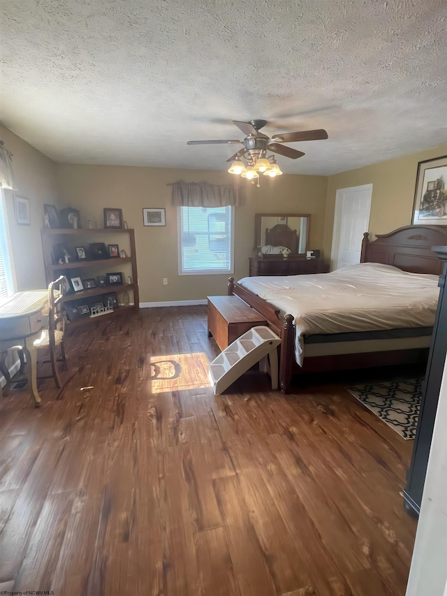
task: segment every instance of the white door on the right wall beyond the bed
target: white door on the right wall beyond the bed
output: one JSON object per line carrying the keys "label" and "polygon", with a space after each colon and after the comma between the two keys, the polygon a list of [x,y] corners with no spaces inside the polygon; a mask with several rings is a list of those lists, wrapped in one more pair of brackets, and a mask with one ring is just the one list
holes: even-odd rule
{"label": "white door on the right wall beyond the bed", "polygon": [[372,184],[338,189],[335,199],[331,270],[360,263],[363,234],[368,231]]}

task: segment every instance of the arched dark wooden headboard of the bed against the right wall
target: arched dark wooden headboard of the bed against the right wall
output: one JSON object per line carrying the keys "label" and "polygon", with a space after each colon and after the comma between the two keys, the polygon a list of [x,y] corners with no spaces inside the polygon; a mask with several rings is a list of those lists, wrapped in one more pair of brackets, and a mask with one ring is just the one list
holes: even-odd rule
{"label": "arched dark wooden headboard of the bed against the right wall", "polygon": [[360,263],[383,263],[411,273],[440,275],[443,261],[432,247],[447,246],[447,226],[405,226],[388,234],[362,240]]}

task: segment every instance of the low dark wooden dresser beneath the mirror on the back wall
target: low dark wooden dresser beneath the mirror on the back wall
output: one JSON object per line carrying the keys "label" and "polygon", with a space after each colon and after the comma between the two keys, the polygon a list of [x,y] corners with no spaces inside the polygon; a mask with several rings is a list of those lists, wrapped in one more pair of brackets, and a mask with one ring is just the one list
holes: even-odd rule
{"label": "low dark wooden dresser beneath the mirror on the back wall", "polygon": [[307,259],[302,255],[289,255],[286,259],[282,255],[265,255],[251,257],[250,277],[256,275],[304,275],[325,273],[323,259]]}

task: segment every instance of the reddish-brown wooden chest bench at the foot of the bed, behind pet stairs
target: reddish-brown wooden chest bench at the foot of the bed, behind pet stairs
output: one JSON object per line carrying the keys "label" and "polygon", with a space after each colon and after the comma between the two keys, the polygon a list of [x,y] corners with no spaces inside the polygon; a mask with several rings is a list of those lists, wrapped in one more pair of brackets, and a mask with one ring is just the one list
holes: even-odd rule
{"label": "reddish-brown wooden chest bench at the foot of the bed, behind pet stairs", "polygon": [[237,296],[208,296],[208,337],[226,349],[251,327],[265,325],[261,314]]}

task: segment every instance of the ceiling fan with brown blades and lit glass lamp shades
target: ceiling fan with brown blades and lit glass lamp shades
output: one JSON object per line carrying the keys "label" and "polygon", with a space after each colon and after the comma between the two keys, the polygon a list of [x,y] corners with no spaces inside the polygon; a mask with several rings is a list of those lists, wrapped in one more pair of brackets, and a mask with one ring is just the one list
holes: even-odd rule
{"label": "ceiling fan with brown blades and lit glass lamp shades", "polygon": [[[244,145],[243,149],[237,151],[226,161],[235,162],[228,172],[232,174],[240,174],[242,177],[247,177],[249,180],[258,177],[258,172],[271,177],[282,174],[274,156],[271,155],[270,157],[267,157],[268,151],[284,155],[284,157],[290,157],[290,159],[298,159],[298,157],[305,155],[302,151],[292,149],[292,147],[282,145],[282,143],[295,143],[302,140],[320,140],[328,138],[328,133],[323,129],[295,133],[281,133],[273,135],[272,138],[270,138],[259,132],[263,126],[267,124],[267,120],[250,120],[250,122],[233,120],[233,124],[247,135],[244,140],[189,140],[187,144],[216,145],[219,143],[240,143],[241,145]],[[242,161],[242,157],[247,160],[247,167]]]}

